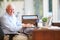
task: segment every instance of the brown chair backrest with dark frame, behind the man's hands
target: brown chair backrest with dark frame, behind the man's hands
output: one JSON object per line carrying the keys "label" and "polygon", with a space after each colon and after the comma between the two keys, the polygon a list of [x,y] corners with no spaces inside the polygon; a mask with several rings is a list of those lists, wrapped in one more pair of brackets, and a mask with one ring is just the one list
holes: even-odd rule
{"label": "brown chair backrest with dark frame, behind the man's hands", "polygon": [[31,23],[37,27],[38,16],[37,15],[22,15],[22,23]]}

